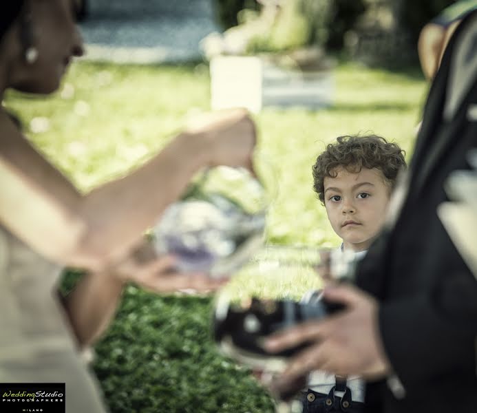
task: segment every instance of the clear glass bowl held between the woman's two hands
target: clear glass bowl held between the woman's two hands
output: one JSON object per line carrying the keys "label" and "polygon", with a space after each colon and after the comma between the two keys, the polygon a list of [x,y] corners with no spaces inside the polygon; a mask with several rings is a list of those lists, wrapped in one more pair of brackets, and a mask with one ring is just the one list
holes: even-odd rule
{"label": "clear glass bowl held between the woman's two hands", "polygon": [[153,228],[156,252],[175,255],[184,272],[225,277],[240,268],[263,244],[273,198],[273,176],[259,171],[260,178],[244,168],[200,173]]}

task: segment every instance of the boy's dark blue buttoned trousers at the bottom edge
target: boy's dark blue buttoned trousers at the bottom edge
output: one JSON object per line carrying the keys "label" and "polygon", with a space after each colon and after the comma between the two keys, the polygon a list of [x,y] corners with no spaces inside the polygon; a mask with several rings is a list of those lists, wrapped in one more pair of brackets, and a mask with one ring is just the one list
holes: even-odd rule
{"label": "boy's dark blue buttoned trousers at the bottom edge", "polygon": [[364,404],[359,401],[352,401],[351,398],[351,390],[348,387],[342,397],[335,396],[335,388],[332,388],[328,394],[308,389],[308,391],[301,393],[302,413],[363,412]]}

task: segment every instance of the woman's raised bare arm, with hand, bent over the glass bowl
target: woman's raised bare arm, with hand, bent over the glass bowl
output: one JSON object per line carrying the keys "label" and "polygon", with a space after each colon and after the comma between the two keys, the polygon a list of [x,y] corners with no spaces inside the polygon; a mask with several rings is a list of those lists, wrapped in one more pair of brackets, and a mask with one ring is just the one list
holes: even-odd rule
{"label": "woman's raised bare arm, with hand, bent over the glass bowl", "polygon": [[0,121],[0,222],[50,260],[95,271],[136,244],[200,167],[250,167],[255,145],[244,111],[215,115],[125,178],[83,196],[10,120],[8,127]]}

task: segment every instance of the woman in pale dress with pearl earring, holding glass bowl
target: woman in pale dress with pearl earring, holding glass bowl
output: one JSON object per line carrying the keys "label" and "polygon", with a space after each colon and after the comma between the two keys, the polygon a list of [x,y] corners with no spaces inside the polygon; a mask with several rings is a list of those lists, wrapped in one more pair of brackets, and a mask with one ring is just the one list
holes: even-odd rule
{"label": "woman in pale dress with pearl earring, holding glass bowl", "polygon": [[[0,8],[2,98],[8,88],[54,92],[83,54],[74,1],[8,0]],[[67,412],[104,412],[78,348],[107,326],[126,281],[156,291],[217,288],[205,275],[167,271],[171,257],[143,263],[138,250],[142,233],[195,171],[251,169],[253,123],[240,110],[211,115],[140,169],[87,195],[30,145],[3,107],[0,139],[0,382],[65,382]],[[62,303],[63,266],[89,273]]]}

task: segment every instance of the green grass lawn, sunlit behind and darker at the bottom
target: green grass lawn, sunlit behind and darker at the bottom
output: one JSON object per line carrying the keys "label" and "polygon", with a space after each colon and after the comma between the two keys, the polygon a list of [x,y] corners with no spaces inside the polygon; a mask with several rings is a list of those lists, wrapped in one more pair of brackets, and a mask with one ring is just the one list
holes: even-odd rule
{"label": "green grass lawn, sunlit behind and darker at the bottom", "polygon": [[[410,158],[426,93],[418,70],[392,73],[341,63],[335,82],[335,105],[328,109],[267,108],[255,116],[259,149],[279,182],[268,215],[268,242],[338,244],[312,192],[310,172],[337,136],[372,132],[398,142]],[[87,191],[147,160],[184,119],[209,108],[209,96],[203,64],[78,63],[54,96],[10,93],[6,105],[21,114],[39,150]],[[67,275],[65,288],[74,277]],[[211,306],[210,297],[125,290],[94,362],[112,412],[273,412],[247,370],[216,352],[209,332]]]}

